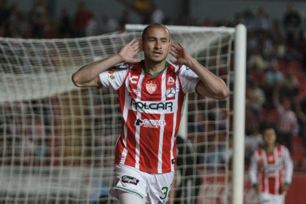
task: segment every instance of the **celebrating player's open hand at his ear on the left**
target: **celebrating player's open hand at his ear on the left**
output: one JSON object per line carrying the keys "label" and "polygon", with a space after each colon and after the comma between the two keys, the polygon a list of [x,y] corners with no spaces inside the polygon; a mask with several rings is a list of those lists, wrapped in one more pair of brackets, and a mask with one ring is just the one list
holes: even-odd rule
{"label": "celebrating player's open hand at his ear on the left", "polygon": [[140,62],[139,59],[134,59],[134,57],[141,51],[139,41],[136,42],[136,39],[133,39],[131,42],[126,44],[120,52],[119,56],[122,58],[122,61],[125,63],[136,63]]}

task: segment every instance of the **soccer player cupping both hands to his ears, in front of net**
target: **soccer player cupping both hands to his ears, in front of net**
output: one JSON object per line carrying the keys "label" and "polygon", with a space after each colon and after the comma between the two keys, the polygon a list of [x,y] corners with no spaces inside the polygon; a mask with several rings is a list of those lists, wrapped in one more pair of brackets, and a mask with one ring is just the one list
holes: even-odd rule
{"label": "soccer player cupping both hands to his ears, in front of net", "polygon": [[[178,44],[171,42],[164,25],[153,23],[143,30],[139,41],[132,40],[119,53],[72,75],[78,87],[109,87],[119,95],[122,128],[110,194],[120,204],[167,202],[185,94],[223,99],[229,93],[222,79]],[[134,59],[141,51],[144,60]],[[166,61],[168,53],[176,60]]]}

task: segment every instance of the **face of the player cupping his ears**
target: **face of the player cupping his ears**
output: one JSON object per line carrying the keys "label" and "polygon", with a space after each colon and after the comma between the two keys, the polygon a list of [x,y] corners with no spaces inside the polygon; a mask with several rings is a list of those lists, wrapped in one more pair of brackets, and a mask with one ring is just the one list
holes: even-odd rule
{"label": "face of the player cupping his ears", "polygon": [[170,36],[165,28],[150,28],[142,42],[145,60],[162,62],[171,48]]}

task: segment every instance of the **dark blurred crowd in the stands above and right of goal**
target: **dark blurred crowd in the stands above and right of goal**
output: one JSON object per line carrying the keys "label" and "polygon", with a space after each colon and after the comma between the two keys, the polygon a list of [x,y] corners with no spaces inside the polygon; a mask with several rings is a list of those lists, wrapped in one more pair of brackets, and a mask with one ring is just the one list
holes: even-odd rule
{"label": "dark blurred crowd in the stands above and right of goal", "polygon": [[76,38],[122,31],[136,12],[143,24],[247,28],[246,159],[261,144],[259,124],[275,122],[277,142],[294,151],[292,138],[302,137],[306,148],[306,23],[292,4],[282,19],[270,19],[264,7],[236,12],[233,20],[203,19],[185,15],[171,19],[154,1],[117,0],[126,8],[120,18],[98,14],[79,2],[73,15],[62,8],[60,17],[49,16],[46,1],[37,0],[29,13],[16,3],[0,2],[0,36],[12,38]]}

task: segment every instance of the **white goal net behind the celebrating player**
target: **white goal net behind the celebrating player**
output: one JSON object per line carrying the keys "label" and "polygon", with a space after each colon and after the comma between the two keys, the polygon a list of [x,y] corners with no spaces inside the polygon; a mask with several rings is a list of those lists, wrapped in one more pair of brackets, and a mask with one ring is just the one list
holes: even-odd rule
{"label": "white goal net behind the celebrating player", "polygon": [[[117,203],[108,190],[121,125],[118,96],[77,88],[71,75],[140,39],[135,28],[75,39],[0,38],[0,203]],[[230,203],[235,29],[169,30],[174,43],[231,88],[221,101],[188,95],[169,202]]]}

